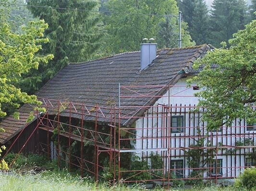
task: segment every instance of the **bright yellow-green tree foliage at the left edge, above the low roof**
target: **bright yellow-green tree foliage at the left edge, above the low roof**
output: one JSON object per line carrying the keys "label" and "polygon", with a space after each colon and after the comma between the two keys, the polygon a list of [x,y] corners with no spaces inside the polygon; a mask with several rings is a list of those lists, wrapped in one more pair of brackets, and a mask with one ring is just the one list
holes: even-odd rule
{"label": "bright yellow-green tree foliage at the left edge, above the low roof", "polygon": [[[40,104],[36,96],[17,88],[17,83],[22,74],[36,70],[39,63],[46,64],[53,55],[37,56],[42,45],[49,42],[43,34],[48,27],[43,20],[28,22],[19,34],[9,24],[10,10],[2,5],[0,9],[0,117],[4,117],[6,108],[15,111],[22,103]],[[13,116],[19,118],[17,112]]]}

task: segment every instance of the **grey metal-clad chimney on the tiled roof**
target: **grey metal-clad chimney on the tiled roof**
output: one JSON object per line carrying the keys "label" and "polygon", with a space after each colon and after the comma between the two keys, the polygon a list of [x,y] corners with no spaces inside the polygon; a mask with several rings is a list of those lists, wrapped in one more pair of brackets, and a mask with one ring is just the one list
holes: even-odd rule
{"label": "grey metal-clad chimney on the tiled roof", "polygon": [[[146,38],[143,41],[147,40]],[[148,43],[140,44],[140,69],[146,68],[157,57],[157,44],[151,43],[155,39],[150,38]]]}

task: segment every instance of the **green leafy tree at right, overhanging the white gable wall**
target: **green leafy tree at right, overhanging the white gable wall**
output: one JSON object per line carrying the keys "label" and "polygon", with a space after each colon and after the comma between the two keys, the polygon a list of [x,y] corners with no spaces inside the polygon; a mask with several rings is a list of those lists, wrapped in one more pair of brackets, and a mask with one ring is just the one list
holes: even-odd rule
{"label": "green leafy tree at right, overhanging the white gable wall", "polygon": [[[232,125],[236,118],[256,123],[256,20],[233,34],[230,48],[209,51],[195,62],[203,70],[193,80],[203,90],[196,94],[206,108],[203,120],[209,129]],[[213,65],[214,64],[214,65]],[[190,81],[191,82],[191,81]],[[227,117],[228,116],[228,117]]]}

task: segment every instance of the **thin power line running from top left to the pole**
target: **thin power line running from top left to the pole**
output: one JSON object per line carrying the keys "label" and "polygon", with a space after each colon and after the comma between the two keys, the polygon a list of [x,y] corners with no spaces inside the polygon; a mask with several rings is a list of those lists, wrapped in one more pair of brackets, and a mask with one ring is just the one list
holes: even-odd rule
{"label": "thin power line running from top left to the pole", "polygon": [[45,8],[45,9],[57,9],[57,10],[66,10],[66,11],[87,11],[87,12],[100,12],[100,13],[112,13],[112,14],[127,14],[127,15],[145,15],[145,16],[160,16],[160,17],[176,17],[178,15],[166,15],[166,14],[147,14],[147,13],[132,13],[132,12],[115,12],[115,11],[94,11],[94,10],[85,10],[85,9],[71,9],[71,8],[61,8],[61,7],[47,7],[47,6],[39,6],[39,5],[25,5],[25,4],[16,4],[16,3],[3,3],[4,5],[12,5],[12,6],[23,6],[23,7],[35,7],[35,8]]}

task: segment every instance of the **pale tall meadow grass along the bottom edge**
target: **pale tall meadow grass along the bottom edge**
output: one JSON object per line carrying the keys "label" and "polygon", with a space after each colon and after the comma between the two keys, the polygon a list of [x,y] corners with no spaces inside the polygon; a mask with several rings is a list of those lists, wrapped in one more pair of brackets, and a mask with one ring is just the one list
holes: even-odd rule
{"label": "pale tall meadow grass along the bottom edge", "polygon": [[[95,184],[90,177],[71,176],[67,171],[44,171],[39,174],[29,171],[21,174],[16,171],[0,172],[0,191],[145,191],[141,185],[125,186],[108,183]],[[209,186],[204,188],[171,189],[172,191],[245,191],[234,187]],[[163,191],[155,189],[154,191]],[[256,191],[256,190],[255,190]]]}

